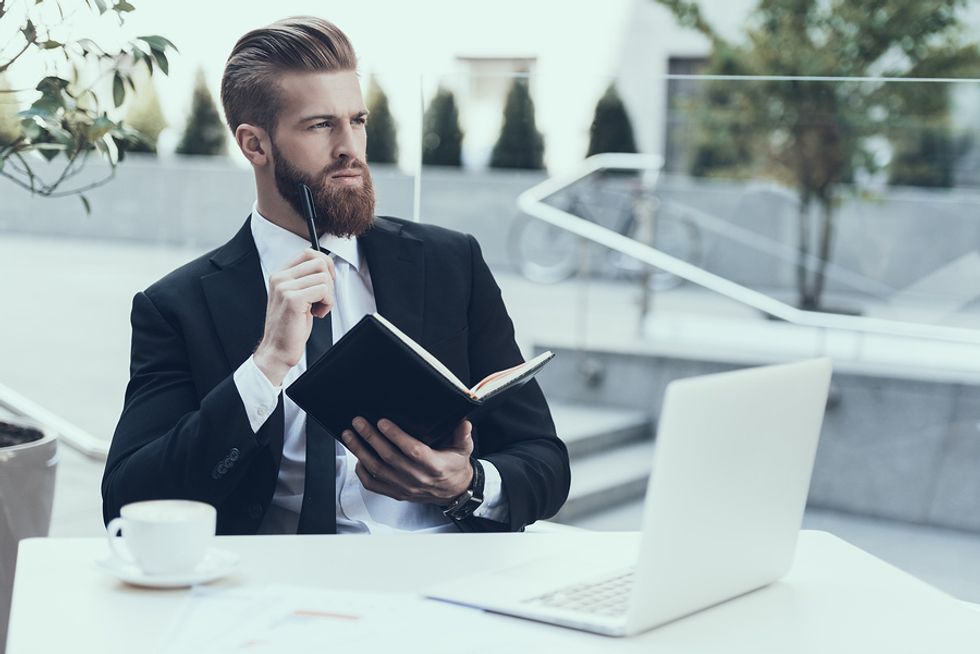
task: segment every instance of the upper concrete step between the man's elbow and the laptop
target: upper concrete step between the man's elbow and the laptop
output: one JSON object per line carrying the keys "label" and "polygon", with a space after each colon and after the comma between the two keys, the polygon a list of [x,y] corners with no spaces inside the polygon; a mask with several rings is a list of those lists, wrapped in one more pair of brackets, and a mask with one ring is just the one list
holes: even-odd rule
{"label": "upper concrete step between the man's elbow and the laptop", "polygon": [[653,422],[643,411],[569,402],[551,402],[550,406],[558,435],[573,462],[652,438]]}

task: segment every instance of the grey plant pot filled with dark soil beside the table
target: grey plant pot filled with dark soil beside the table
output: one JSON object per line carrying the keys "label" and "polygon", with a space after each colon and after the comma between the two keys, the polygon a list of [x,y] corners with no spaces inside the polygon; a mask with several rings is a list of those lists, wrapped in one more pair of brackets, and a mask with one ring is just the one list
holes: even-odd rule
{"label": "grey plant pot filled with dark soil beside the table", "polygon": [[0,414],[0,654],[7,643],[17,544],[48,535],[57,463],[53,433]]}

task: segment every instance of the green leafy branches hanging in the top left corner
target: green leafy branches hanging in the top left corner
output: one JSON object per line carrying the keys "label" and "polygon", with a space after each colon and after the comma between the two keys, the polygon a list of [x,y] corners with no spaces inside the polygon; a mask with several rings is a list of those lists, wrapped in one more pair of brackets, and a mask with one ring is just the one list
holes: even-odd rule
{"label": "green leafy branches hanging in the top left corner", "polygon": [[[127,0],[85,0],[85,7],[117,24],[135,9]],[[0,176],[41,197],[78,194],[88,211],[83,191],[112,179],[127,144],[136,138],[134,130],[109,118],[102,109],[102,80],[111,80],[112,104],[118,108],[126,99],[127,86],[135,91],[133,74],[137,68],[145,66],[151,74],[154,70],[167,74],[167,52],[176,48],[156,35],[136,37],[111,51],[92,39],[65,39],[63,34],[70,32],[65,24],[72,17],[73,14],[62,12],[58,0],[12,5],[0,2],[0,33],[6,40],[0,47],[0,73],[13,71],[15,66],[30,66],[38,80],[33,89],[4,93],[18,100],[21,95],[33,100],[28,109],[18,114],[20,135],[12,143],[0,146]],[[24,59],[25,55],[31,56]],[[87,75],[91,82],[84,81]],[[66,189],[67,182],[84,168],[93,152],[108,162],[109,174]],[[42,175],[35,154],[49,162],[61,156],[64,165],[56,169],[53,178]]]}

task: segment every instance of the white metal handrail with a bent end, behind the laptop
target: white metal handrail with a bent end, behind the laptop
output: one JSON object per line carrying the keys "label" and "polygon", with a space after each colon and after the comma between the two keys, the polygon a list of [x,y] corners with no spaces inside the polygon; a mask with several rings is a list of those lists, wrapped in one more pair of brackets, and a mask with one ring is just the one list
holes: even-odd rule
{"label": "white metal handrail with a bent end, behind the laptop", "polygon": [[546,179],[527,189],[518,196],[517,204],[521,211],[534,218],[665,270],[692,284],[714,291],[735,302],[789,323],[820,329],[980,343],[980,330],[976,329],[938,327],[884,318],[844,316],[799,309],[544,202],[551,195],[600,170],[645,170],[659,174],[662,166],[663,158],[658,155],[619,152],[592,155],[584,159],[582,166],[578,169],[566,175]]}

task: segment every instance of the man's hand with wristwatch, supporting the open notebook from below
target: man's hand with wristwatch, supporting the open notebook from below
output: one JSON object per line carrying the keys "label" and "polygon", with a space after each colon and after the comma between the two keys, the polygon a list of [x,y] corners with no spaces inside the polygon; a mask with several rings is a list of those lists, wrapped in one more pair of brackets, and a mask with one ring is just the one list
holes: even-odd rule
{"label": "man's hand with wristwatch, supporting the open notebook from below", "polygon": [[354,472],[369,491],[396,500],[448,506],[469,488],[473,425],[468,420],[459,423],[452,445],[445,450],[433,450],[390,420],[378,421],[375,428],[364,418],[355,418],[354,429],[357,433],[348,429],[341,438],[357,457]]}

